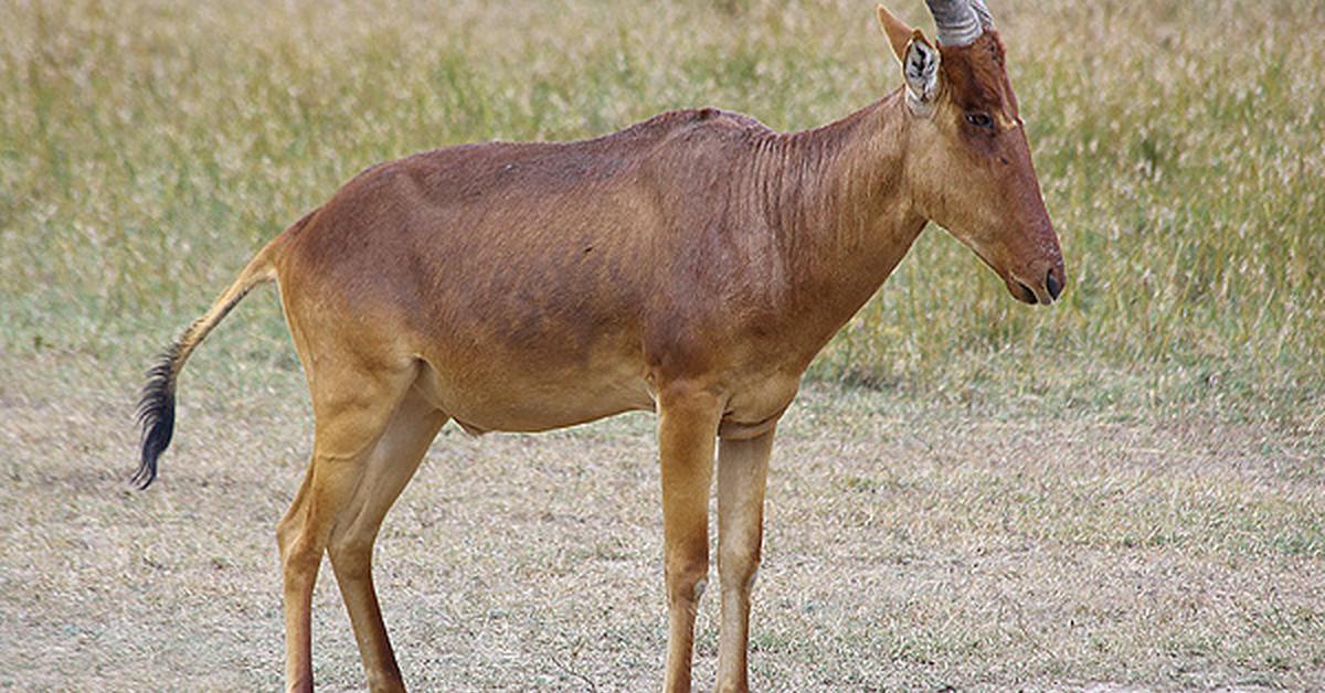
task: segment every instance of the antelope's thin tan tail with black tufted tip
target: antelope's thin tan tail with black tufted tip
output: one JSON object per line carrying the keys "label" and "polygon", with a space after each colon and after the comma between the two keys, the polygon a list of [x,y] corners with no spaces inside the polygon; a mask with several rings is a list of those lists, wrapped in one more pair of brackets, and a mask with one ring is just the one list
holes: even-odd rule
{"label": "antelope's thin tan tail with black tufted tip", "polygon": [[143,386],[143,396],[138,400],[138,423],[143,427],[143,454],[131,480],[139,489],[146,489],[156,478],[156,460],[166,452],[175,433],[175,380],[179,378],[179,371],[207,333],[211,333],[231,309],[254,286],[276,280],[276,266],[270,257],[274,246],[276,241],[258,252],[235,284],[225,289],[212,307],[193,321],[147,371],[147,384]]}

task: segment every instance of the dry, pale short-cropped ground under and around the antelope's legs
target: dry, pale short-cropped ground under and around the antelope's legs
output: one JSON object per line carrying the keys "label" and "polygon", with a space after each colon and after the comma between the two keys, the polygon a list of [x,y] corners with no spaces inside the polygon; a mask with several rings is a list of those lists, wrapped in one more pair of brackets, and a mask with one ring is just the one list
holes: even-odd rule
{"label": "dry, pale short-cropped ground under and around the antelope's legs", "polygon": [[[186,374],[130,490],[129,374],[0,355],[0,688],[280,686],[273,529],[311,421],[297,372]],[[1219,420],[971,412],[808,384],[768,484],[763,690],[1325,688],[1325,462]],[[649,690],[665,640],[653,417],[448,427],[388,517],[378,583],[417,690]],[[696,681],[716,665],[717,599]],[[323,568],[322,689],[359,689]]]}

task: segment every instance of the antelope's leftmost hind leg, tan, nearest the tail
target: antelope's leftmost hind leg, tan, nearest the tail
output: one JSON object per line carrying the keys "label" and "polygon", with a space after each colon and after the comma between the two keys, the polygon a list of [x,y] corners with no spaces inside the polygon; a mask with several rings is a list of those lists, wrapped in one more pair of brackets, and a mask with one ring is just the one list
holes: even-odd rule
{"label": "antelope's leftmost hind leg, tan, nearest the tail", "polygon": [[417,374],[413,363],[368,367],[337,362],[310,374],[313,460],[290,510],[277,526],[285,608],[285,684],[313,689],[313,587],[331,530],[350,506],[364,470]]}

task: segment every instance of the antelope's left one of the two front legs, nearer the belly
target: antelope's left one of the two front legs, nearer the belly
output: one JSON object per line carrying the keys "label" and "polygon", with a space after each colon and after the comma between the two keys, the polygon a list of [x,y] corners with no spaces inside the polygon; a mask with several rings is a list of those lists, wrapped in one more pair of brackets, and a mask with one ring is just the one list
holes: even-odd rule
{"label": "antelope's left one of the two front legs, nearer the belly", "polygon": [[722,401],[713,392],[673,386],[659,392],[662,464],[662,542],[668,651],[662,689],[690,690],[694,612],[709,575],[709,484]]}

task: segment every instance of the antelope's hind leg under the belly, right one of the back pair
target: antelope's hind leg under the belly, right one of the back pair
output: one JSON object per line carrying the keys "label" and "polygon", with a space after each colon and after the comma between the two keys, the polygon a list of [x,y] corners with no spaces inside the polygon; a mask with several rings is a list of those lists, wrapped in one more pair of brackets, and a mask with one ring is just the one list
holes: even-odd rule
{"label": "antelope's hind leg under the belly, right one of the back pair", "polygon": [[327,553],[350,612],[370,690],[404,690],[372,586],[372,545],[405,484],[413,478],[447,415],[411,390],[364,468],[363,480],[331,529]]}

